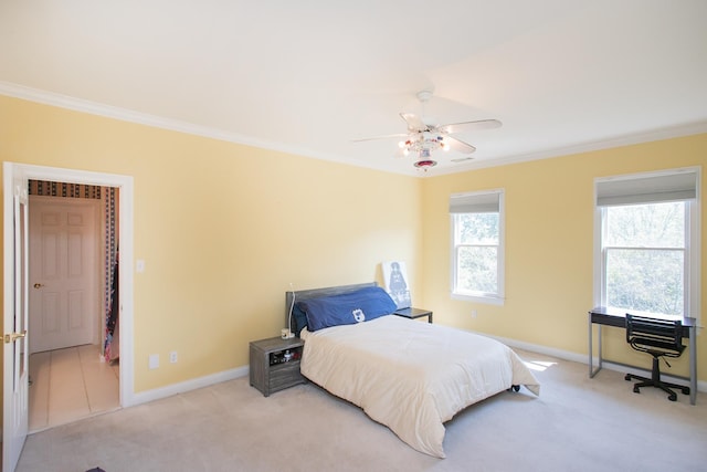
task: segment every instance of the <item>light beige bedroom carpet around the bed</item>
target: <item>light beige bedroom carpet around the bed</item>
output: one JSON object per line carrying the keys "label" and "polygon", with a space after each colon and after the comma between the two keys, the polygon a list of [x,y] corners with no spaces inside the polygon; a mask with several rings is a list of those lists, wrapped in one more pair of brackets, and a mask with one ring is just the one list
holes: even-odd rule
{"label": "light beige bedroom carpet around the bed", "polygon": [[583,364],[517,352],[545,368],[540,397],[467,408],[446,424],[446,459],[312,384],[264,398],[240,378],[32,434],[18,471],[707,470],[707,395],[636,395],[621,373],[589,379]]}

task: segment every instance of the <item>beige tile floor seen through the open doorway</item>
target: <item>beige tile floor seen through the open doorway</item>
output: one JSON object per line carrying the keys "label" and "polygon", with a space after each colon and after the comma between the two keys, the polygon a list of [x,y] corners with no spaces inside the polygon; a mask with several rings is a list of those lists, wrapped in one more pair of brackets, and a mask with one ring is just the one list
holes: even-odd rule
{"label": "beige tile floor seen through the open doorway", "polygon": [[30,356],[30,432],[120,407],[118,364],[99,353],[85,345]]}

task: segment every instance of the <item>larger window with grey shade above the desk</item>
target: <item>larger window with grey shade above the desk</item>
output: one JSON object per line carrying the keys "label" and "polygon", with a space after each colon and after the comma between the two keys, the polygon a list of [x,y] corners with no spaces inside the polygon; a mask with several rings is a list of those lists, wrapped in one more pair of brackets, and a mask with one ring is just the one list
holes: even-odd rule
{"label": "larger window with grey shade above the desk", "polygon": [[597,181],[598,305],[697,316],[698,177],[679,169]]}

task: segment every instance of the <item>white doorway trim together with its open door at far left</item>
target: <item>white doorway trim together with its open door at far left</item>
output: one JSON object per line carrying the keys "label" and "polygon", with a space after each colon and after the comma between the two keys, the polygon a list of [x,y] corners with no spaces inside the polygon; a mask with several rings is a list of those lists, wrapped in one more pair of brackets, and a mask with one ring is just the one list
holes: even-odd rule
{"label": "white doorway trim together with its open door at far left", "polygon": [[[18,256],[18,250],[23,248],[23,239],[18,237],[18,218],[27,212],[27,189],[30,180],[45,180],[57,182],[84,183],[119,189],[119,241],[120,264],[127,270],[119,271],[120,314],[118,334],[120,353],[120,406],[136,405],[134,382],[134,340],[133,340],[133,294],[134,294],[134,182],[133,177],[116,174],[92,172],[86,170],[65,169],[59,167],[32,166],[4,161],[3,170],[3,325],[8,343],[3,343],[3,428],[2,428],[2,465],[3,470],[12,471],[19,460],[28,432],[28,384],[29,376],[18,376],[22,356],[29,353],[24,349],[24,339],[31,337],[28,331],[21,331],[17,325],[18,306],[25,306],[28,284],[27,277],[20,277],[27,265],[27,258]],[[19,210],[18,210],[19,208]],[[24,208],[24,210],[23,210]],[[27,219],[25,219],[27,220]],[[19,265],[19,269],[18,266]],[[27,371],[27,370],[23,370]]]}

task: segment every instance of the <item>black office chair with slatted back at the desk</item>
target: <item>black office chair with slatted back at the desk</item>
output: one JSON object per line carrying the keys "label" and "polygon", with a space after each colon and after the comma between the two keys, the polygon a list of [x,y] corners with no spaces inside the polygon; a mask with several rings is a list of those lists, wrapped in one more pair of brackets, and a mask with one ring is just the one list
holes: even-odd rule
{"label": "black office chair with slatted back at the desk", "polygon": [[[683,394],[689,395],[689,387],[669,384],[661,380],[659,358],[679,357],[685,350],[683,346],[683,323],[680,321],[668,321],[657,318],[646,318],[626,314],[626,343],[636,350],[648,353],[653,356],[653,370],[651,378],[626,374],[626,380],[642,380],[633,386],[633,391],[641,392],[641,387],[655,387],[668,394],[667,399],[677,400],[677,395],[671,388],[679,388]],[[665,360],[668,367],[671,365]]]}

